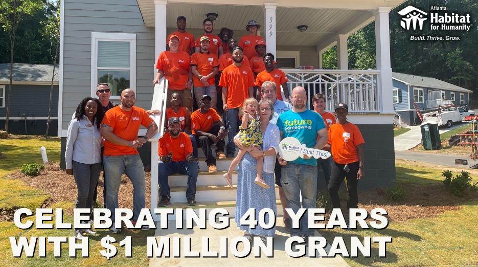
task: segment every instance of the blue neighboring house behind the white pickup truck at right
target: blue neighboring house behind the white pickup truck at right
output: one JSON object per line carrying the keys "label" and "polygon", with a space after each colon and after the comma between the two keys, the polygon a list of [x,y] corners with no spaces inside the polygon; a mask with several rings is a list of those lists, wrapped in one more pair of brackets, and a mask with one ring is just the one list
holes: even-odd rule
{"label": "blue neighboring house behind the white pickup truck at right", "polygon": [[392,76],[394,110],[408,125],[421,123],[413,101],[421,112],[449,104],[470,106],[471,90],[430,77],[397,72]]}

